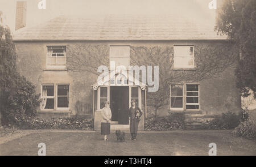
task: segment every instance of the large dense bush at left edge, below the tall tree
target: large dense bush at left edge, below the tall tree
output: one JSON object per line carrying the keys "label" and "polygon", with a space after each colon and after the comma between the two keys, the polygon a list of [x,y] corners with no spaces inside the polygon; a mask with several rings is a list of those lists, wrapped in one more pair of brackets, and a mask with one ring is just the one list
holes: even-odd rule
{"label": "large dense bush at left edge, below the tall tree", "polygon": [[35,86],[23,76],[15,74],[15,86],[1,95],[2,125],[22,128],[36,114],[40,104]]}

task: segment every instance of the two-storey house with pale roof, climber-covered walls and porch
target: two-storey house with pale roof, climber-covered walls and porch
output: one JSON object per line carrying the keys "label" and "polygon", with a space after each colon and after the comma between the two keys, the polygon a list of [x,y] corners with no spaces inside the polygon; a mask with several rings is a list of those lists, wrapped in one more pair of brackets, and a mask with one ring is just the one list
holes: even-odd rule
{"label": "two-storey house with pale roof, climber-covered walls and porch", "polygon": [[[36,91],[41,94],[39,117],[90,114],[94,118],[94,129],[98,130],[101,119],[98,110],[108,100],[113,115],[112,127],[128,129],[127,112],[134,99],[143,111],[139,125],[143,130],[144,119],[154,113],[152,101],[148,100],[152,92],[148,92],[147,83],[139,80],[139,84],[135,84],[136,78],[130,75],[126,79],[131,84],[113,83],[119,75],[114,72],[106,80],[108,84],[101,85],[93,70],[100,65],[110,67],[110,61],[115,62],[115,66],[137,65],[134,59],[145,57],[138,54],[142,52],[134,50],[154,47],[171,48],[168,71],[173,75],[169,84],[163,86],[168,93],[168,104],[158,110],[159,116],[185,113],[189,120],[209,121],[214,115],[228,111],[238,113],[241,109],[241,94],[236,88],[234,75],[239,55],[237,61],[226,66],[219,67],[218,61],[200,64],[199,57],[212,60],[219,50],[213,48],[214,52],[204,54],[199,53],[200,47],[204,47],[200,50],[207,50],[213,45],[227,45],[229,41],[225,36],[217,36],[213,27],[201,26],[184,18],[61,16],[35,27],[19,29],[14,33],[14,42],[18,71],[35,84]],[[144,55],[151,59],[147,52]],[[203,68],[206,63],[207,67]],[[210,68],[213,70],[208,71]],[[207,72],[201,77],[202,72],[198,69]],[[176,76],[180,79],[177,80]]]}

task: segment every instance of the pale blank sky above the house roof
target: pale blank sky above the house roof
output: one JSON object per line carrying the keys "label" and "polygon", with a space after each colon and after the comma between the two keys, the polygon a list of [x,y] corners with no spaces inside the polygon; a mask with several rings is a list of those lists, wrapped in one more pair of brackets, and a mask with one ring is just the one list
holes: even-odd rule
{"label": "pale blank sky above the house roof", "polygon": [[[0,11],[12,31],[15,28],[16,1],[0,0]],[[195,22],[214,24],[212,0],[46,0],[46,9],[39,9],[41,0],[27,0],[27,26],[46,22],[59,15],[108,14],[175,14]]]}

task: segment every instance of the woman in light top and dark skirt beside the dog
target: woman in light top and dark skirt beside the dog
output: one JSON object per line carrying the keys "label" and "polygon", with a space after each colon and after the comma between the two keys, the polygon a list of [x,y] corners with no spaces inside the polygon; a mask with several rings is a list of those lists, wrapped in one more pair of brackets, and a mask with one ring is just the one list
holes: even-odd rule
{"label": "woman in light top and dark skirt beside the dog", "polygon": [[110,119],[112,117],[109,108],[109,101],[105,101],[105,107],[101,109],[101,135],[104,135],[104,140],[108,140],[110,134]]}

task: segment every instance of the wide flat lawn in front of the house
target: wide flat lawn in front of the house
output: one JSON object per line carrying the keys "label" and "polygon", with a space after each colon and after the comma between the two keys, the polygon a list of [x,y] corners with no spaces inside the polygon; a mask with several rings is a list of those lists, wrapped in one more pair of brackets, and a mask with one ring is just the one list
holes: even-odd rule
{"label": "wide flat lawn in front of the house", "polygon": [[256,155],[256,142],[236,138],[230,130],[139,132],[137,141],[116,142],[94,131],[37,130],[0,144],[0,155],[37,155],[38,143],[46,144],[46,155],[208,155],[216,143],[217,155]]}

